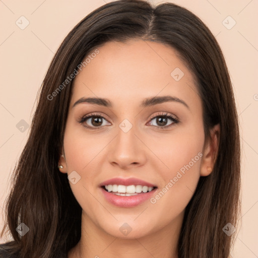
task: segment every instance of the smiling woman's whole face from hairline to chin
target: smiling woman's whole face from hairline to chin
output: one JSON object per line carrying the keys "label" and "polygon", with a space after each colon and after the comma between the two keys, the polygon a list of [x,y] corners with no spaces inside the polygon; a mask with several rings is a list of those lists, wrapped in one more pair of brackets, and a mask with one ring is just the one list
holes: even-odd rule
{"label": "smiling woman's whole face from hairline to chin", "polygon": [[169,46],[132,40],[98,50],[74,81],[60,171],[73,173],[85,221],[115,237],[143,237],[182,219],[212,167],[202,101]]}

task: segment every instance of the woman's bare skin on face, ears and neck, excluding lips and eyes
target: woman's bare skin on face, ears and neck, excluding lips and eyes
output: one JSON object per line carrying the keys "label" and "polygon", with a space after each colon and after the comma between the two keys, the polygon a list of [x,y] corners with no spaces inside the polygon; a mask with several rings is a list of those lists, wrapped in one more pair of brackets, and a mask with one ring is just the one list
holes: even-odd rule
{"label": "woman's bare skin on face, ears and neck, excluding lips and eyes", "polygon": [[[205,143],[202,100],[194,76],[171,47],[150,41],[108,42],[76,76],[60,155],[60,172],[76,171],[81,179],[70,185],[82,207],[82,236],[70,250],[76,257],[167,257],[175,258],[184,210],[200,176],[212,172],[219,125],[211,129]],[[179,68],[184,76],[175,81],[171,72]],[[173,96],[176,101],[140,107],[145,98]],[[118,97],[119,96],[119,97]],[[109,99],[113,107],[74,103],[82,97]],[[105,118],[94,127],[89,118],[98,113]],[[160,129],[156,115],[168,113]],[[124,133],[119,124],[133,125]],[[84,125],[92,126],[90,130]],[[157,192],[173,179],[184,165],[202,153],[185,174],[155,204],[147,200],[133,208],[120,208],[106,201],[99,184],[114,177],[137,177],[157,185]],[[154,195],[155,197],[155,195]],[[132,228],[123,235],[119,228]]]}

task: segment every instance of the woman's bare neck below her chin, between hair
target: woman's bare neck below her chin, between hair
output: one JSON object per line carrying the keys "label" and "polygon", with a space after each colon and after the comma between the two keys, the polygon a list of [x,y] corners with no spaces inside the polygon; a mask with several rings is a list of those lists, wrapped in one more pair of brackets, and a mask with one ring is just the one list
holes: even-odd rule
{"label": "woman's bare neck below her chin, between hair", "polygon": [[69,258],[177,258],[177,241],[182,226],[183,213],[170,224],[139,238],[114,237],[92,222],[82,212],[82,234],[72,248]]}

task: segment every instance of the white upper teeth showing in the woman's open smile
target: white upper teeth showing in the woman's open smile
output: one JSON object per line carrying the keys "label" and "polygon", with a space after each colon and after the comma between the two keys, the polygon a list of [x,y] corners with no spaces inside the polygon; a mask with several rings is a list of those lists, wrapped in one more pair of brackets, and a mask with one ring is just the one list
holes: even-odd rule
{"label": "white upper teeth showing in the woman's open smile", "polygon": [[[133,196],[137,195],[140,192],[147,192],[151,191],[154,187],[148,187],[146,185],[117,185],[117,184],[108,184],[105,185],[105,188],[109,192],[114,192],[116,195],[119,196]],[[135,193],[135,194],[134,194]]]}

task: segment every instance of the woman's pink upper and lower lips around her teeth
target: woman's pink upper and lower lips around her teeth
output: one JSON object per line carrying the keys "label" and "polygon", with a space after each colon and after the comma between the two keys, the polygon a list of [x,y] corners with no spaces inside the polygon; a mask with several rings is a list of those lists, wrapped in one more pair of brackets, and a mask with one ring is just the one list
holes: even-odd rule
{"label": "woman's pink upper and lower lips around her teeth", "polygon": [[141,193],[138,193],[137,195],[135,196],[117,196],[117,195],[114,195],[114,193],[112,192],[108,192],[104,189],[104,185],[108,185],[108,184],[121,184],[121,185],[146,185],[148,187],[156,187],[154,184],[152,183],[149,183],[149,182],[146,182],[144,180],[141,180],[141,179],[138,179],[138,178],[112,178],[112,179],[109,179],[109,180],[106,180],[104,182],[102,182],[100,184],[100,187],[101,187],[101,191],[105,197],[105,199],[115,205],[115,206],[118,206],[118,207],[121,207],[121,208],[132,208],[132,207],[135,207],[137,205],[140,205],[142,204],[143,202],[149,200],[154,192],[156,192],[157,188],[154,188],[152,191],[150,192],[141,192]]}

